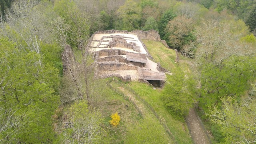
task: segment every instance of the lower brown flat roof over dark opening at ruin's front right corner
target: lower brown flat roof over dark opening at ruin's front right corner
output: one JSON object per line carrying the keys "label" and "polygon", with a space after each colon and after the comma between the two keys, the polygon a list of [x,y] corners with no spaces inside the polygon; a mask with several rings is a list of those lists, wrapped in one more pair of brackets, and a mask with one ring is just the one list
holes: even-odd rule
{"label": "lower brown flat roof over dark opening at ruin's front right corner", "polygon": [[154,72],[151,70],[142,70],[144,80],[166,80],[164,72]]}

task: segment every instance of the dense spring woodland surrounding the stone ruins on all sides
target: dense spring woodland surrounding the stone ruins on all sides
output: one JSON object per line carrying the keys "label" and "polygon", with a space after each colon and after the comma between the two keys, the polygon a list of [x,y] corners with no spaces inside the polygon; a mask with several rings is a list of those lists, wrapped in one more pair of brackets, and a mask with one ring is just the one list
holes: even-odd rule
{"label": "dense spring woodland surrounding the stone ruins on all sides", "polygon": [[[170,70],[159,92],[174,118],[198,106],[212,143],[256,143],[255,0],[0,0],[0,12],[0,143],[118,142],[102,126],[106,93],[84,58],[90,35],[111,29],[157,30],[192,62],[190,75]],[[79,84],[62,72],[67,44],[86,69]],[[56,126],[63,117],[74,126]]]}

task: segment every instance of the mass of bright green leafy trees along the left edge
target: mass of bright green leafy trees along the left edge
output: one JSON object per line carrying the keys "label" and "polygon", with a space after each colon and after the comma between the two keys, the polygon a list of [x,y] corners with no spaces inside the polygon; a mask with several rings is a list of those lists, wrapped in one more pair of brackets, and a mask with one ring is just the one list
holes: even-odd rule
{"label": "mass of bright green leafy trees along the left edge", "polygon": [[40,65],[39,59],[36,52],[20,51],[8,39],[0,39],[0,102],[7,105],[1,111],[14,110],[14,116],[20,117],[18,126],[14,125],[10,133],[0,132],[6,136],[4,140],[14,139],[14,143],[54,140],[51,116],[60,102],[55,92],[59,71],[44,62]]}

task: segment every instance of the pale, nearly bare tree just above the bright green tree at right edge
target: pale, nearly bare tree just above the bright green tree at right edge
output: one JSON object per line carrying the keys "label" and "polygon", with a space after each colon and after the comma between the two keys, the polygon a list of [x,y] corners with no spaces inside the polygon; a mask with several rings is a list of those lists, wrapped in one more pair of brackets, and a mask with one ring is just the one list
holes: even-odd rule
{"label": "pale, nearly bare tree just above the bright green tree at right edge", "polygon": [[240,42],[243,33],[232,32],[233,24],[207,21],[196,27],[196,59],[220,64],[230,56],[255,54],[255,49]]}

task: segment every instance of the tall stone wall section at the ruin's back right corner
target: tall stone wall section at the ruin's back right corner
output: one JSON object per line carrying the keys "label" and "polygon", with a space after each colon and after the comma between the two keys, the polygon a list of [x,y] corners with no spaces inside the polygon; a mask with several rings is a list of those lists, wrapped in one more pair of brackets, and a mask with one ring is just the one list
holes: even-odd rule
{"label": "tall stone wall section at the ruin's back right corner", "polygon": [[130,34],[136,34],[138,37],[145,40],[154,40],[154,41],[161,40],[160,35],[156,30],[149,30],[149,31],[133,30],[132,32],[130,32]]}

